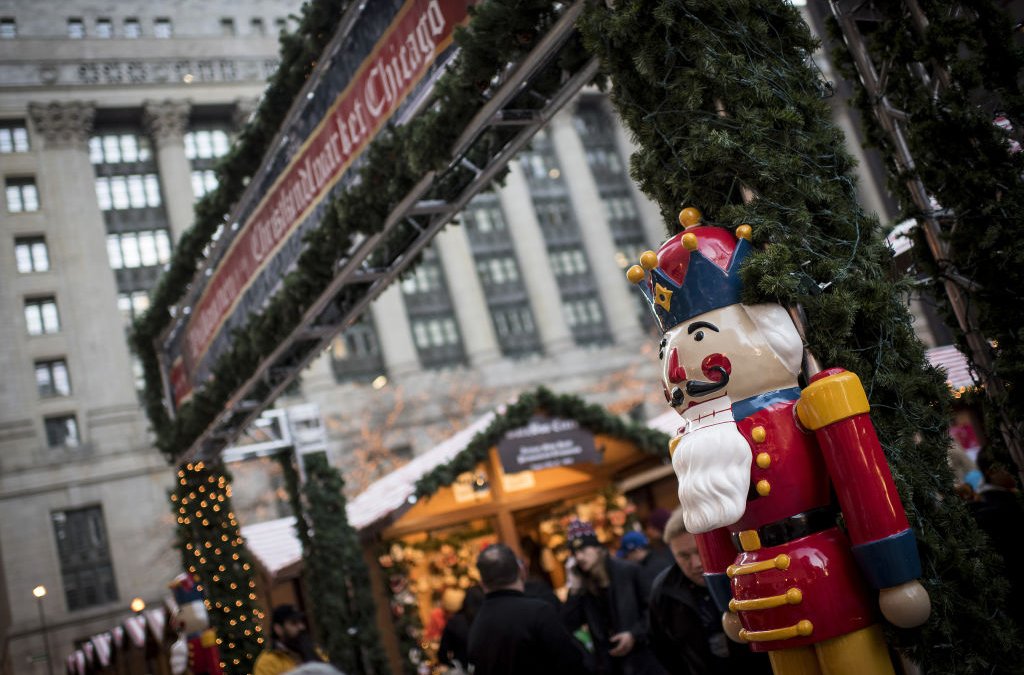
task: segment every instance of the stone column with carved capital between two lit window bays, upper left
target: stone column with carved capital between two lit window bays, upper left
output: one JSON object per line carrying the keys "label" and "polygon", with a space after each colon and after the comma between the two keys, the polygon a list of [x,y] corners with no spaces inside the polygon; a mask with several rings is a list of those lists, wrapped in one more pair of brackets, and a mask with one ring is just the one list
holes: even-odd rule
{"label": "stone column with carved capital between two lit window bays, upper left", "polygon": [[195,216],[191,164],[184,145],[189,110],[184,100],[148,100],[144,104],[145,126],[156,147],[164,206],[175,242],[191,226]]}

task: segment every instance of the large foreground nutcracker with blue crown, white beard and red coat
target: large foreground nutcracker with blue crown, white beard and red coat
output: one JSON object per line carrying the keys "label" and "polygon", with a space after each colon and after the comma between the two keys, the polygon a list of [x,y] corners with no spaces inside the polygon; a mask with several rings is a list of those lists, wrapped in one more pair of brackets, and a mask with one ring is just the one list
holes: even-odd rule
{"label": "large foreground nutcracker with blue crown, white beard and red coat", "polygon": [[627,276],[664,331],[679,501],[726,634],[778,675],[891,674],[879,610],[908,628],[931,604],[863,387],[831,368],[801,390],[788,312],[740,302],[750,226],[680,222]]}

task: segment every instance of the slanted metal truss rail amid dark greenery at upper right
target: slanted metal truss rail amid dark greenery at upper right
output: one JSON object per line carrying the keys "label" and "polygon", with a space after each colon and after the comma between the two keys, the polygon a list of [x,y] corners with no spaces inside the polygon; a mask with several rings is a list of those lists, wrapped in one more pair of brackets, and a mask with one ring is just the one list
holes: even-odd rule
{"label": "slanted metal truss rail amid dark greenery at upper right", "polygon": [[[910,193],[910,198],[913,200],[914,206],[923,214],[921,228],[925,235],[925,241],[928,243],[928,249],[932,258],[942,270],[942,286],[949,299],[949,305],[956,318],[956,323],[961,331],[964,332],[968,348],[971,351],[971,361],[976,367],[988,394],[1004,395],[1006,387],[992,370],[991,345],[989,345],[988,340],[985,339],[981,331],[978,330],[976,312],[970,306],[964,289],[954,281],[953,278],[956,275],[948,273],[953,271],[948,269],[950,266],[948,246],[942,239],[941,225],[933,214],[934,209],[929,199],[928,188],[925,186],[924,181],[916,175],[913,156],[910,153],[906,136],[900,124],[900,119],[905,119],[905,115],[894,109],[885,95],[882,78],[879,77],[874,64],[871,61],[864,38],[857,28],[856,22],[844,10],[842,4],[839,0],[829,0],[833,15],[835,15],[843,32],[843,40],[846,42],[850,55],[857,67],[860,81],[873,101],[874,116],[883,130],[889,135],[889,139],[896,151],[894,157],[896,165],[901,172],[908,176],[906,185]],[[910,14],[914,19],[915,28],[919,32],[924,31],[928,25],[928,19],[925,17],[921,7],[914,0],[907,0],[907,4]],[[936,67],[936,70],[939,80],[944,85],[948,85],[948,74],[941,68]],[[1006,419],[1001,412],[997,412],[996,414],[998,415],[998,427],[1002,439],[1007,444],[1007,448],[1010,450],[1010,454],[1013,456],[1018,468],[1024,471],[1024,448],[1022,448],[1017,434],[1014,433],[1013,424],[1011,424],[1010,420]]]}

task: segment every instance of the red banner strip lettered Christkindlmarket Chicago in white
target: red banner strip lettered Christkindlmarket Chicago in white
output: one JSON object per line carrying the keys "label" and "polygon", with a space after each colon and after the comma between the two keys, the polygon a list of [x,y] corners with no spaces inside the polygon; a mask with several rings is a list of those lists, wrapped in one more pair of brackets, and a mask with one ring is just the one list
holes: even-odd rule
{"label": "red banner strip lettered Christkindlmarket Chicago in white", "polygon": [[[431,71],[451,45],[455,28],[467,20],[472,0],[408,0],[370,53],[355,61],[358,68],[352,77],[264,191],[220,258],[183,331],[175,331],[170,343],[163,345],[175,408],[209,374],[214,358],[208,358],[208,352],[225,322],[238,311],[262,307],[263,302],[251,298],[240,307],[246,292]],[[385,3],[371,3],[365,13],[384,9]],[[371,19],[379,23],[379,17],[367,16],[368,23]],[[218,345],[217,351],[223,350]]]}

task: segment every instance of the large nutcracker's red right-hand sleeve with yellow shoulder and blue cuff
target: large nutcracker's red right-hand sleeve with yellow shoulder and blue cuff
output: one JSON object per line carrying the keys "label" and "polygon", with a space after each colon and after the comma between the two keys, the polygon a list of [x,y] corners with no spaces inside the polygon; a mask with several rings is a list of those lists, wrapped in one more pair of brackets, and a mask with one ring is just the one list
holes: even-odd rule
{"label": "large nutcracker's red right-hand sleeve with yellow shoulder and blue cuff", "polygon": [[[921,560],[869,410],[860,379],[834,368],[812,378],[797,404],[797,417],[821,447],[854,557],[867,582],[885,589],[885,598],[893,595],[890,589],[916,584]],[[927,601],[925,594],[923,602]],[[927,607],[922,611],[920,623],[928,617]]]}

